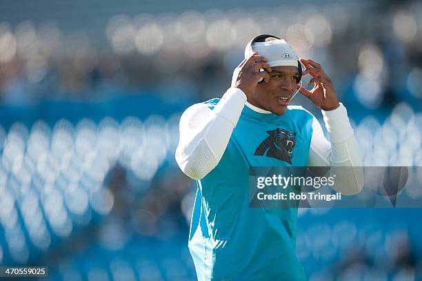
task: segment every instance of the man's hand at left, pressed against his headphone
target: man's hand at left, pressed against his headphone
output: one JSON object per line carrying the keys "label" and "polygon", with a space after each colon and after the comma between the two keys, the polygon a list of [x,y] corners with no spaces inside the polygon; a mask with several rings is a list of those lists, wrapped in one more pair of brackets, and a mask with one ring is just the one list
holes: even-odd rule
{"label": "man's hand at left, pressed against his headphone", "polygon": [[[267,72],[259,72],[259,68],[264,68]],[[248,59],[243,59],[237,68],[234,68],[232,88],[241,89],[249,97],[257,87],[261,77],[264,78],[265,82],[268,82],[270,79],[268,72],[271,72],[270,65],[267,64],[264,57],[254,52]]]}

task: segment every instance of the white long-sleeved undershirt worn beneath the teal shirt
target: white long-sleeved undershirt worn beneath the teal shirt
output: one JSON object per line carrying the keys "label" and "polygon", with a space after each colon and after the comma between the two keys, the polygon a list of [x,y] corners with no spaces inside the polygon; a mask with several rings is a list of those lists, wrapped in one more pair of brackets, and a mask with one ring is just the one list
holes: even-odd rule
{"label": "white long-sleeved undershirt worn beneath the teal shirt", "polygon": [[[217,166],[245,104],[259,113],[270,113],[249,104],[245,93],[238,88],[229,88],[214,110],[207,104],[194,104],[185,110],[180,120],[176,151],[177,164],[185,175],[200,180]],[[348,173],[341,173],[343,179],[337,177],[336,182],[344,184],[336,184],[336,190],[345,195],[359,193],[363,187],[361,151],[347,110],[340,104],[339,108],[322,110],[322,113],[331,143],[325,139],[321,125],[314,117],[308,162],[310,171],[312,166],[350,167]]]}

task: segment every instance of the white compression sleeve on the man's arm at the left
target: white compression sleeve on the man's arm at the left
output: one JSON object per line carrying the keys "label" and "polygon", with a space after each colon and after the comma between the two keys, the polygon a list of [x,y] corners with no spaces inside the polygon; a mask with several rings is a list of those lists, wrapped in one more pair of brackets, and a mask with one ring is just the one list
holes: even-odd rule
{"label": "white compression sleeve on the man's arm at the left", "polygon": [[229,88],[214,110],[194,104],[180,119],[176,161],[181,171],[200,180],[219,163],[245,106],[246,95]]}

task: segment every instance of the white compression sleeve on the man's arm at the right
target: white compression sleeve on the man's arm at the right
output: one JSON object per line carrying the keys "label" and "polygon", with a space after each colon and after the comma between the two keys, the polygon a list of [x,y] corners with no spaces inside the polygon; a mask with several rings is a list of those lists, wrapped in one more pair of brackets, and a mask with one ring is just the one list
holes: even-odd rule
{"label": "white compression sleeve on the man's arm at the right", "polygon": [[345,195],[359,193],[363,188],[362,157],[359,145],[354,137],[348,113],[343,104],[330,111],[322,111],[325,127],[328,130],[331,144],[325,139],[319,122],[312,122],[313,134],[309,153],[310,171],[312,166],[342,166],[337,169],[337,191]]}

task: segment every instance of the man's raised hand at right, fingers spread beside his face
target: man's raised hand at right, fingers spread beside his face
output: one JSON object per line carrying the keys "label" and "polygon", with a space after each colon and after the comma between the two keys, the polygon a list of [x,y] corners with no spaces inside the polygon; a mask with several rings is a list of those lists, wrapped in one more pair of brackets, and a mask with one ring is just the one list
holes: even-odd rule
{"label": "man's raised hand at right, fingers spread beside his face", "polygon": [[314,83],[314,88],[312,90],[307,90],[301,86],[297,86],[299,93],[308,97],[316,106],[322,110],[328,111],[336,109],[340,106],[339,99],[337,99],[336,90],[332,81],[328,75],[325,74],[322,66],[312,59],[300,59],[305,70],[302,72],[302,75],[309,74],[312,76],[308,86]]}

